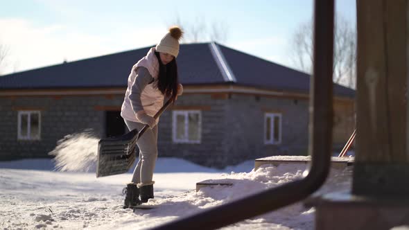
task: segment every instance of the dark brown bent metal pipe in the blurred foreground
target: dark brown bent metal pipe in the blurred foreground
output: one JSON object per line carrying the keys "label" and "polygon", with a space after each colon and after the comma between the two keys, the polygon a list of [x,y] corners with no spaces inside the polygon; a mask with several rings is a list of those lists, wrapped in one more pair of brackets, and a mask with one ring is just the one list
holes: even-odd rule
{"label": "dark brown bent metal pipe in the blurred foreground", "polygon": [[177,219],[153,229],[217,229],[299,202],[317,191],[329,173],[333,116],[333,21],[334,1],[314,3],[314,62],[310,89],[308,175],[295,182],[270,188],[228,204]]}

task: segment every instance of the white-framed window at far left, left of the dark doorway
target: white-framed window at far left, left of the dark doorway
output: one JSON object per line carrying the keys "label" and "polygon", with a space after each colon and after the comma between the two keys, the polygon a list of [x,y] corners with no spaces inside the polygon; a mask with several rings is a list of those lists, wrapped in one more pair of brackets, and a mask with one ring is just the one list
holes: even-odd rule
{"label": "white-framed window at far left, left of the dark doorway", "polygon": [[41,117],[40,111],[19,111],[17,139],[40,140]]}

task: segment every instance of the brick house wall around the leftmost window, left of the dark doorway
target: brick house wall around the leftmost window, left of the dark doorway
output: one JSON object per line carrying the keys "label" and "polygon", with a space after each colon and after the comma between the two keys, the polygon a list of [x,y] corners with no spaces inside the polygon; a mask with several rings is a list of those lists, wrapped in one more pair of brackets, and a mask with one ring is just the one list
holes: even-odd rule
{"label": "brick house wall around the leftmost window, left of the dark doorway", "polygon": [[[49,157],[48,152],[55,148],[58,140],[86,129],[102,136],[104,112],[95,106],[98,103],[118,105],[118,102],[105,96],[0,97],[0,159]],[[40,141],[17,139],[17,114],[30,110],[41,113]]]}

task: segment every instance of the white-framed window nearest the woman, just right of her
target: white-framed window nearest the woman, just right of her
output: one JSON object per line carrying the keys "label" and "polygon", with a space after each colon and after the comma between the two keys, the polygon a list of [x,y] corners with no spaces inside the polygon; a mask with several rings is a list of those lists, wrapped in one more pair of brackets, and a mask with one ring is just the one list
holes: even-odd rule
{"label": "white-framed window nearest the woman, just right of her", "polygon": [[199,110],[173,111],[172,140],[174,143],[200,143],[202,113]]}

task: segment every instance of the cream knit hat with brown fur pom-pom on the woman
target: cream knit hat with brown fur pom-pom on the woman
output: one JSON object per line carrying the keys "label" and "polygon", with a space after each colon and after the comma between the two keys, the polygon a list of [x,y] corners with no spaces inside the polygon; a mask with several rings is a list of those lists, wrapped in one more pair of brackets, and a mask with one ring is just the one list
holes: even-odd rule
{"label": "cream knit hat with brown fur pom-pom on the woman", "polygon": [[178,26],[169,28],[159,44],[156,45],[156,51],[160,53],[168,53],[175,57],[179,54],[179,39],[182,37],[182,30]]}

